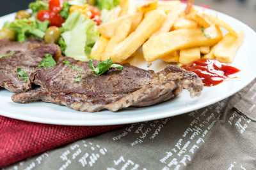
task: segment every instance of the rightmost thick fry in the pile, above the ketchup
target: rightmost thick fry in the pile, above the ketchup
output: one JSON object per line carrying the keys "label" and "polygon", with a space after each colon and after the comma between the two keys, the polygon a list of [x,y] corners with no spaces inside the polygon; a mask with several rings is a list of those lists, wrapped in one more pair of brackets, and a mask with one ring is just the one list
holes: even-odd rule
{"label": "rightmost thick fry in the pile, above the ketchup", "polygon": [[214,56],[221,62],[232,62],[236,56],[237,50],[243,44],[243,41],[243,31],[237,32],[237,37],[230,32],[216,45]]}

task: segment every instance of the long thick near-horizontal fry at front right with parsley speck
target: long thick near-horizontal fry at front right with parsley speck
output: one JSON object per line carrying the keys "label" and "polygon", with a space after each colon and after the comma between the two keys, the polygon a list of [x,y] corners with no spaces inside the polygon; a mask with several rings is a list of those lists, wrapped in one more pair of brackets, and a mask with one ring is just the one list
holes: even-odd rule
{"label": "long thick near-horizontal fry at front right with parsley speck", "polygon": [[152,62],[176,50],[212,46],[223,37],[220,29],[215,25],[206,28],[205,32],[211,38],[207,38],[200,29],[179,29],[150,38],[142,46],[144,57],[147,62]]}

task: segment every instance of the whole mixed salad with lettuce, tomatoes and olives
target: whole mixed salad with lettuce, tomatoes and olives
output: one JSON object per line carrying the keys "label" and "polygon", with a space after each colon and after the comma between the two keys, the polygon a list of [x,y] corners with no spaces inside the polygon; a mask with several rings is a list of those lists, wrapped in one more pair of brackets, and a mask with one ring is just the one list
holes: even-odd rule
{"label": "whole mixed salad with lettuce, tomatoes and olives", "polygon": [[27,38],[42,38],[56,43],[63,55],[76,60],[90,60],[93,45],[100,37],[97,27],[109,21],[111,9],[120,0],[36,0],[28,11],[18,11],[15,20],[6,22],[0,39],[24,42]]}

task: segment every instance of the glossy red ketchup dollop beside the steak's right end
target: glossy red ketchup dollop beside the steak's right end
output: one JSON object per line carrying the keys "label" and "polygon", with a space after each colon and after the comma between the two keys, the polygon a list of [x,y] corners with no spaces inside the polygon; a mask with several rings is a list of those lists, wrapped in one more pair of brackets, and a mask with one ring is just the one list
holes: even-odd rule
{"label": "glossy red ketchup dollop beside the steak's right end", "polygon": [[182,67],[196,73],[202,79],[205,86],[218,85],[222,81],[230,79],[228,75],[240,71],[235,67],[227,66],[227,64],[214,59],[199,59],[191,62],[188,66]]}

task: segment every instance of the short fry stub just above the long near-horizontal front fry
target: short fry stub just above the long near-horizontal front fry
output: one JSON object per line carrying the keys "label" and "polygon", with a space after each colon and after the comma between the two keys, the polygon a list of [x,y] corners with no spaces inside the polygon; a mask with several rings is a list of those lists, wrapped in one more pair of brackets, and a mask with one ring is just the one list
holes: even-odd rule
{"label": "short fry stub just above the long near-horizontal front fry", "polygon": [[197,23],[193,20],[187,20],[186,18],[179,17],[175,20],[173,28],[177,29],[196,29],[198,27]]}

